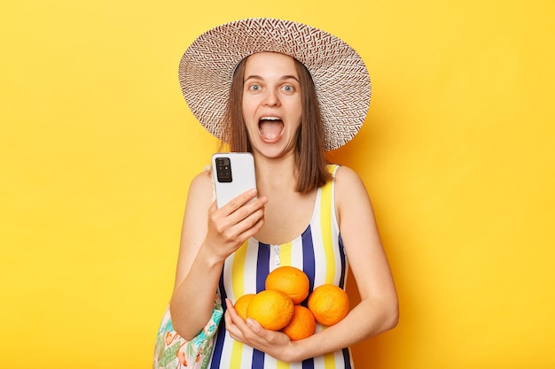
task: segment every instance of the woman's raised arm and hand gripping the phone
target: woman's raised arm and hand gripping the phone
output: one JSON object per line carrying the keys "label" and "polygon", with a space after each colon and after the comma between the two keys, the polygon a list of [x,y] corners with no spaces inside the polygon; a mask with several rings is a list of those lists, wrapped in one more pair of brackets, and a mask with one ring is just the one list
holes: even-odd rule
{"label": "woman's raised arm and hand gripping the phone", "polygon": [[217,209],[210,173],[200,173],[191,183],[170,301],[172,323],[187,340],[210,319],[225,258],[262,227],[265,198],[246,204],[254,195],[247,191]]}

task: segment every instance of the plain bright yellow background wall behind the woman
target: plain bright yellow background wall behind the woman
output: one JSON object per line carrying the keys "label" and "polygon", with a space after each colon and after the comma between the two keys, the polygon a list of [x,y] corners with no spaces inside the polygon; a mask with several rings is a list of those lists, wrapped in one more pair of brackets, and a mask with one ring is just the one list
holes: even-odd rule
{"label": "plain bright yellow background wall behind the woman", "polygon": [[330,158],[368,187],[401,321],[357,367],[554,367],[551,0],[4,1],[0,366],[150,368],[216,148],[177,63],[252,16],[324,28],[371,73],[368,119]]}

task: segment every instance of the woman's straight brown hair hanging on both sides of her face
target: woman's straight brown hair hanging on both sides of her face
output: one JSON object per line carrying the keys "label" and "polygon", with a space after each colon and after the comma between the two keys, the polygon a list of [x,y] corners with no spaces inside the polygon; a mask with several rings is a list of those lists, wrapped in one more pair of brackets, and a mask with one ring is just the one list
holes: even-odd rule
{"label": "woman's straight brown hair hanging on both sides of her face", "polygon": [[[302,122],[297,135],[295,159],[299,175],[296,190],[308,193],[329,181],[324,150],[324,123],[320,114],[316,88],[309,70],[300,61],[293,59],[301,84]],[[243,79],[245,61],[241,60],[231,81],[230,98],[226,106],[224,141],[231,151],[252,152],[243,120]]]}

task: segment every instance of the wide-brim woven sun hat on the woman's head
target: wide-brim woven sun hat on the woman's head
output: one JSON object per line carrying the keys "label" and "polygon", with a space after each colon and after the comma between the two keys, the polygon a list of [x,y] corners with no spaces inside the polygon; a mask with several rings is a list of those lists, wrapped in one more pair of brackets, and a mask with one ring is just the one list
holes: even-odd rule
{"label": "wide-brim woven sun hat on the woman's head", "polygon": [[225,141],[223,120],[238,63],[257,52],[299,60],[315,83],[324,122],[324,149],[339,149],[363,126],[370,77],[347,42],[323,30],[284,19],[240,19],[212,28],[192,42],[179,64],[179,83],[193,115]]}

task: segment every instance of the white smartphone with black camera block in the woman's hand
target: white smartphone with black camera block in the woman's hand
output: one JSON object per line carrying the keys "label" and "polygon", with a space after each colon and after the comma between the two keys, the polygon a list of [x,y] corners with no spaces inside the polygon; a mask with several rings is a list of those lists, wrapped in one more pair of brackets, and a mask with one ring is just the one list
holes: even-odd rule
{"label": "white smartphone with black camera block in the woman's hand", "polygon": [[254,157],[250,152],[226,152],[212,156],[215,198],[218,208],[231,199],[256,188]]}

